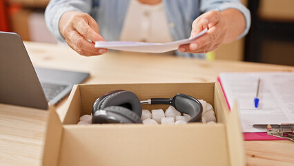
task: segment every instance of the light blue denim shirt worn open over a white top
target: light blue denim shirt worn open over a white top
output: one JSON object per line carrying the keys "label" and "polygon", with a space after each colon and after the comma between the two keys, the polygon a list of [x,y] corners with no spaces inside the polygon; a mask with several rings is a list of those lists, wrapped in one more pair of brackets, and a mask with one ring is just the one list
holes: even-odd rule
{"label": "light blue denim shirt worn open over a white top", "polygon": [[[242,35],[248,33],[251,25],[249,10],[239,0],[163,0],[168,28],[173,40],[190,37],[193,21],[210,10],[226,10],[235,8],[242,12],[246,20],[246,28]],[[81,11],[90,14],[99,25],[99,33],[106,41],[117,41],[121,36],[129,0],[51,0],[45,12],[46,24],[50,32],[60,42],[65,39],[59,32],[59,19],[64,12]],[[182,57],[205,58],[204,54],[180,53]]]}

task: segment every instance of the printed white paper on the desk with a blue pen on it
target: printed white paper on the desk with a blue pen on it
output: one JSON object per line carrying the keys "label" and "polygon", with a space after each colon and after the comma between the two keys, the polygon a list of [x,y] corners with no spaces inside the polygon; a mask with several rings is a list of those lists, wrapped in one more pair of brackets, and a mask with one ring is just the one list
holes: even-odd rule
{"label": "printed white paper on the desk with a blue pen on it", "polygon": [[[259,85],[259,105],[254,98]],[[294,123],[294,72],[220,73],[230,107],[239,104],[243,132],[266,132],[253,124]]]}

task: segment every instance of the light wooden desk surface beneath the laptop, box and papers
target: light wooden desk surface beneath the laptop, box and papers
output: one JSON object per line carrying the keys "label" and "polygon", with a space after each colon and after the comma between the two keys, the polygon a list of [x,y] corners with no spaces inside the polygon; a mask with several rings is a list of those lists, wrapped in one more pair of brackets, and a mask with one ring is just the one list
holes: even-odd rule
{"label": "light wooden desk surface beneath the laptop, box and papers", "polygon": [[[25,43],[35,66],[89,71],[86,83],[215,82],[222,71],[294,71],[294,66],[186,59],[170,55],[111,52],[82,57],[67,46]],[[57,105],[64,116],[66,99]],[[8,111],[3,111],[3,108]],[[10,109],[10,110],[9,110]],[[0,104],[0,165],[41,165],[46,111]],[[246,141],[248,165],[294,165],[289,140]]]}

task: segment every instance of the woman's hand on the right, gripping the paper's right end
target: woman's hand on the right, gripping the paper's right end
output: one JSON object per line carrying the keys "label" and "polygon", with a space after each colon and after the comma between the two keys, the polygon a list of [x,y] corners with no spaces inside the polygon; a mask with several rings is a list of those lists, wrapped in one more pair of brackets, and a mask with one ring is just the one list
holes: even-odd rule
{"label": "woman's hand on the right, gripping the paper's right end", "polygon": [[190,38],[200,33],[205,28],[208,29],[207,33],[195,39],[190,44],[179,46],[180,52],[188,53],[208,53],[217,49],[224,39],[228,30],[226,21],[221,12],[210,11],[197,17],[192,24],[192,32]]}

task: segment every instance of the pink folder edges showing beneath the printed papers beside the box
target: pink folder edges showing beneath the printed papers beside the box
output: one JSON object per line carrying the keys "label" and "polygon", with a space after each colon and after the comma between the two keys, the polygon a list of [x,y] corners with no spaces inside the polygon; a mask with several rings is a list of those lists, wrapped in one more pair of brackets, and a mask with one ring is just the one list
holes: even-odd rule
{"label": "pink folder edges showing beneath the printed papers beside the box", "polygon": [[[217,77],[217,82],[219,82],[219,84],[222,87],[222,82],[219,79],[219,77]],[[224,93],[224,98],[226,99],[226,104],[228,104],[228,100],[226,98],[226,93],[224,92],[224,89],[222,87],[222,92]],[[228,104],[228,109],[231,111],[231,107]],[[284,138],[277,138],[275,136],[269,136],[266,132],[263,133],[243,133],[243,138],[244,140],[286,140]]]}

